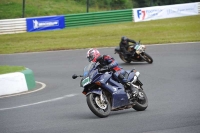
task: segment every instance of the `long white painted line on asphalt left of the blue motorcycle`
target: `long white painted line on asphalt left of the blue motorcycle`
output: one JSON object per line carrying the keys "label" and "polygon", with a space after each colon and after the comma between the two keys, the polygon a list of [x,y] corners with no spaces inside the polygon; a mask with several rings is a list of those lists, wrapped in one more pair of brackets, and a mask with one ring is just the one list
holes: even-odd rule
{"label": "long white painted line on asphalt left of the blue motorcycle", "polygon": [[65,96],[62,96],[62,97],[58,97],[58,98],[54,98],[54,99],[50,99],[50,100],[45,100],[45,101],[40,101],[40,102],[36,102],[36,103],[25,104],[25,105],[10,107],[10,108],[1,108],[0,111],[17,109],[17,108],[22,108],[22,107],[28,107],[28,106],[33,106],[33,105],[47,103],[47,102],[53,102],[53,101],[57,101],[57,100],[61,100],[61,99],[67,98],[67,97],[73,97],[75,95],[78,95],[78,94],[69,94],[69,95],[65,95]]}

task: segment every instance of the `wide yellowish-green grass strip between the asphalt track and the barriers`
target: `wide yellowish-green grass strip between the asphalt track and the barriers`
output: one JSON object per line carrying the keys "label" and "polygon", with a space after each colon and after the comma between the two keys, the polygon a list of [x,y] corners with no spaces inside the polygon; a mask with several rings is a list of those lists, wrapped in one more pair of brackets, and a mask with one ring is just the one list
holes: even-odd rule
{"label": "wide yellowish-green grass strip between the asphalt track and the barriers", "polygon": [[143,44],[200,41],[200,15],[0,35],[0,54],[113,47],[124,35]]}

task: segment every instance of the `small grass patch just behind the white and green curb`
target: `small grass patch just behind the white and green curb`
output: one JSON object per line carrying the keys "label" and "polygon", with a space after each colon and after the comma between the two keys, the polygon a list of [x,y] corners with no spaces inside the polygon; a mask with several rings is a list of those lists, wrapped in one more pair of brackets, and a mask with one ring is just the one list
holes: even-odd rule
{"label": "small grass patch just behind the white and green curb", "polygon": [[0,74],[12,73],[12,72],[21,72],[26,68],[23,66],[0,66]]}

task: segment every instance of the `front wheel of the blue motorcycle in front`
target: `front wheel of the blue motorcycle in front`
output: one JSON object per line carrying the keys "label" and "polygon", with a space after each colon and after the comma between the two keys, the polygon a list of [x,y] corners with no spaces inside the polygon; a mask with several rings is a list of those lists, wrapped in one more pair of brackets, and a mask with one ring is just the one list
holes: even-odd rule
{"label": "front wheel of the blue motorcycle in front", "polygon": [[104,118],[109,116],[111,106],[107,98],[104,98],[104,102],[101,102],[100,95],[90,93],[87,95],[87,104],[90,110],[98,117]]}

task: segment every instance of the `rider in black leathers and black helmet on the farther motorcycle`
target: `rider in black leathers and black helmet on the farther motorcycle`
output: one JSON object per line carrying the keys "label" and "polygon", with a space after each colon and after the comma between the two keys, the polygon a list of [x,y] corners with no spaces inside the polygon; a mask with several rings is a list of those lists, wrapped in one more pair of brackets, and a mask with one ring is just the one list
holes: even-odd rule
{"label": "rider in black leathers and black helmet on the farther motorcycle", "polygon": [[128,51],[129,42],[136,44],[135,40],[131,40],[131,39],[127,38],[126,36],[122,36],[121,41],[119,43],[120,50],[123,52],[124,58],[126,60],[128,60],[130,56],[134,56],[134,54],[135,54],[135,50],[131,51],[131,52]]}

